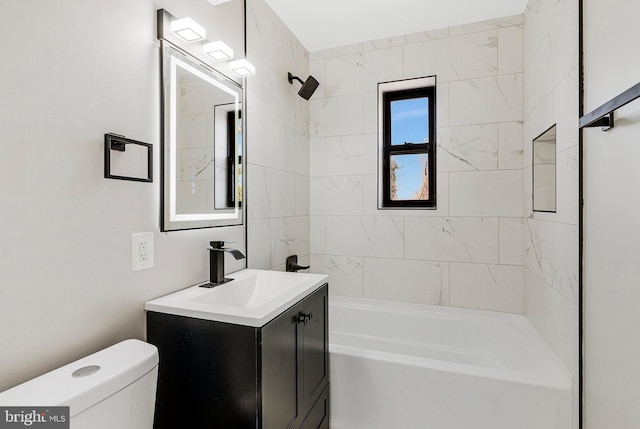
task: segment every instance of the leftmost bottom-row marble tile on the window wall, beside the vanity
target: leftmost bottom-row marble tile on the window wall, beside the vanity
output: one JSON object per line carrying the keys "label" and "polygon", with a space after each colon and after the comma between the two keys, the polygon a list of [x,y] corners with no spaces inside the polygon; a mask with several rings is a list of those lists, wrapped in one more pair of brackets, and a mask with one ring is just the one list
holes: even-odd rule
{"label": "leftmost bottom-row marble tile on the window wall, beside the vanity", "polygon": [[314,273],[327,274],[329,293],[332,295],[363,297],[362,257],[338,255],[311,255]]}

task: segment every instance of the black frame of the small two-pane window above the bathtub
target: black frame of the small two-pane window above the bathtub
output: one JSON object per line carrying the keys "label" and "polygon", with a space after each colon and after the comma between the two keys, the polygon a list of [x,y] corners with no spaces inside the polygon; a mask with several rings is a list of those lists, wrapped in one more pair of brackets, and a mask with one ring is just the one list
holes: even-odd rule
{"label": "black frame of the small two-pane window above the bathtub", "polygon": [[[391,141],[391,103],[412,98],[427,98],[429,106],[429,142],[405,142],[392,145]],[[435,209],[436,208],[436,87],[420,86],[382,93],[382,192],[381,205],[385,209]],[[427,154],[429,199],[428,200],[392,200],[391,199],[391,157],[394,155]]]}

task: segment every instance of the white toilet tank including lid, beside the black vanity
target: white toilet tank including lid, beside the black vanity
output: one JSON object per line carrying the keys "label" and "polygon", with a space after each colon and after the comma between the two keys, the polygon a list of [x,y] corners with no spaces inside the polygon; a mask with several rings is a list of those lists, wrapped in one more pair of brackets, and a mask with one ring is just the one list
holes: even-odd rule
{"label": "white toilet tank including lid, beside the black vanity", "polygon": [[151,429],[158,349],[126,340],[0,393],[0,406],[69,406],[72,429]]}

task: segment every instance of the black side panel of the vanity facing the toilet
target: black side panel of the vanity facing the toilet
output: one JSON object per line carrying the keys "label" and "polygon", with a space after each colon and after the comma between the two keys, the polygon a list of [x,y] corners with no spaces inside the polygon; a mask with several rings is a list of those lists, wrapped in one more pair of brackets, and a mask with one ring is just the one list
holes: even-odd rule
{"label": "black side panel of the vanity facing the toilet", "polygon": [[147,341],[160,355],[155,429],[255,429],[255,328],[148,312]]}

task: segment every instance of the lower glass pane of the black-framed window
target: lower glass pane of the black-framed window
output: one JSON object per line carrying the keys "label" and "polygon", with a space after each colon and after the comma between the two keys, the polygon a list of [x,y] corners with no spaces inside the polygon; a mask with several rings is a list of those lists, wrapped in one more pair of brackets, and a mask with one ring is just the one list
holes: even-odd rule
{"label": "lower glass pane of the black-framed window", "polygon": [[429,199],[429,155],[391,155],[391,200]]}

